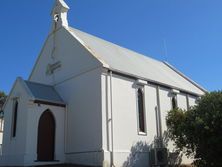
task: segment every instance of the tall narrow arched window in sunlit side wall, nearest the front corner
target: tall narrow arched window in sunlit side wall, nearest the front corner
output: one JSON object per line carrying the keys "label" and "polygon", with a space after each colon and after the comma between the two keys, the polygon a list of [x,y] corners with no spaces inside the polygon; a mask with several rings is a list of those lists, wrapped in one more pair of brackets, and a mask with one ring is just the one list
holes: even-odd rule
{"label": "tall narrow arched window in sunlit side wall, nearest the front corner", "polygon": [[145,133],[144,96],[141,88],[137,90],[139,132]]}

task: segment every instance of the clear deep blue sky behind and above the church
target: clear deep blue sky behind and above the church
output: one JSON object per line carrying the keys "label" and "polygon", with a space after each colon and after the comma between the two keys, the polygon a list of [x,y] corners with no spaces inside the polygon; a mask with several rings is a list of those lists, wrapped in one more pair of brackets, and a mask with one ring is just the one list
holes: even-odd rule
{"label": "clear deep blue sky behind and above the church", "polygon": [[[66,2],[72,27],[167,60],[209,91],[222,88],[221,0]],[[0,90],[8,93],[17,76],[28,79],[49,33],[53,4],[0,1]]]}

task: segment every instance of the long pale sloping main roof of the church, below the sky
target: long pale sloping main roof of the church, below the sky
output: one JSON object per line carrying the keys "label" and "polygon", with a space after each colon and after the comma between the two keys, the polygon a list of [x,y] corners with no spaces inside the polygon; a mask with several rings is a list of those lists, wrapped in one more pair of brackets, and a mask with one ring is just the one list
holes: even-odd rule
{"label": "long pale sloping main roof of the church, below the sky", "polygon": [[204,89],[170,68],[167,64],[150,57],[123,48],[80,30],[69,28],[71,34],[94,53],[95,57],[104,62],[112,70],[139,76],[150,81],[169,85],[179,90],[202,95]]}

